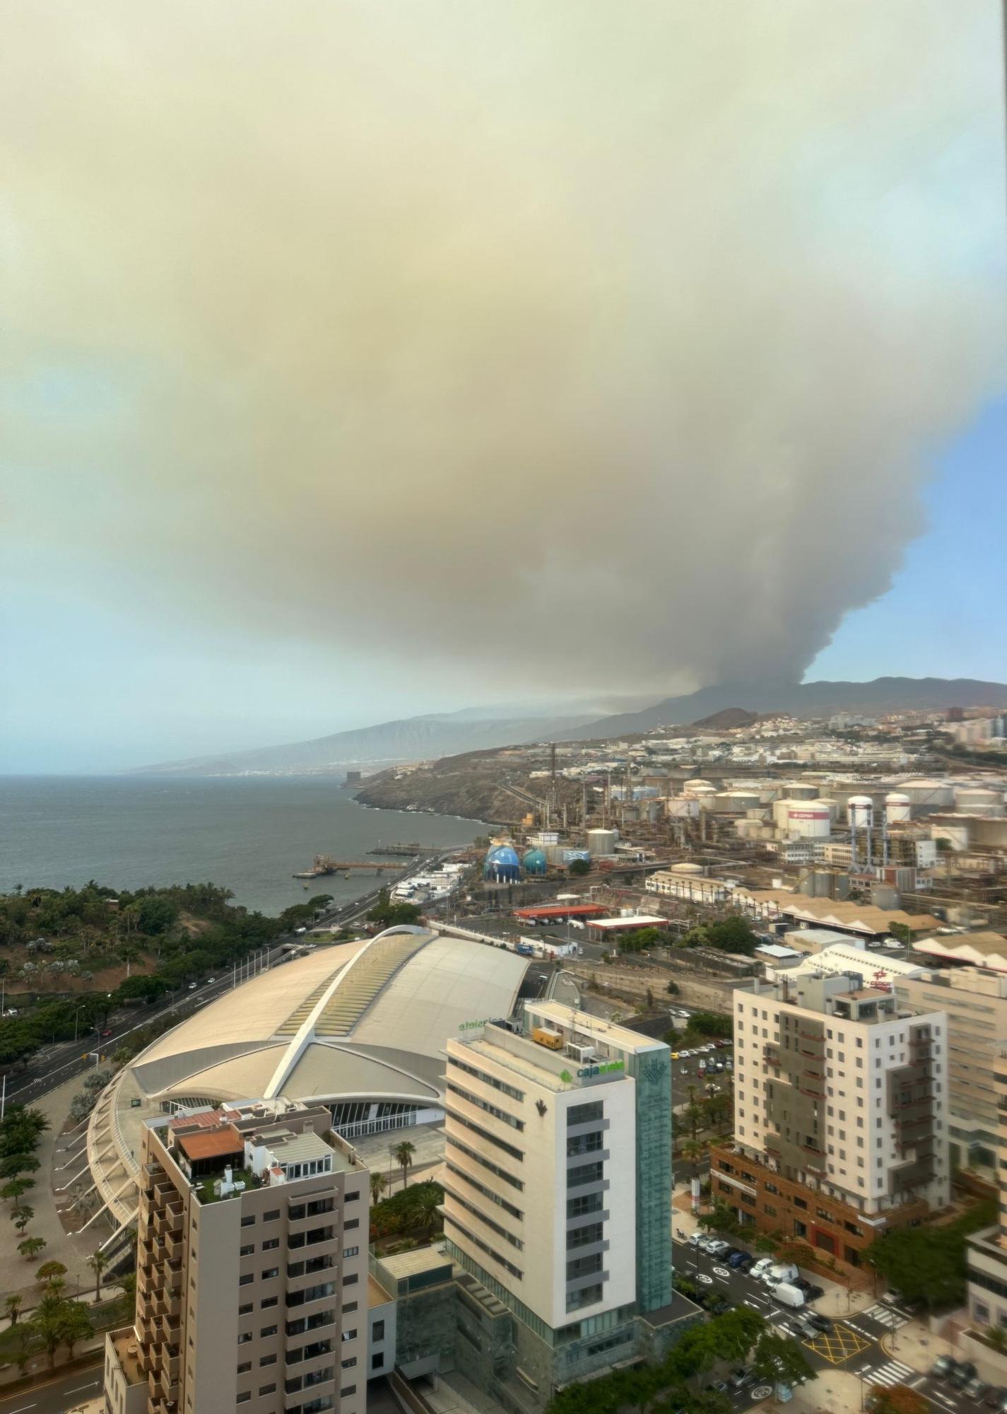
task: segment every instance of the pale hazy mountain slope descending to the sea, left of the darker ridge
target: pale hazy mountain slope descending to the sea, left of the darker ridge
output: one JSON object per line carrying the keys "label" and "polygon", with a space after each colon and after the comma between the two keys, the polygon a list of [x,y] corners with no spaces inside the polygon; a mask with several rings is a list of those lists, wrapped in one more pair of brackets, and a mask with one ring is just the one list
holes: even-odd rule
{"label": "pale hazy mountain slope descending to the sea, left of the darker ridge", "polygon": [[590,714],[564,717],[485,717],[478,708],[458,713],[434,713],[383,721],[376,727],[337,731],[314,741],[296,741],[283,747],[259,747],[253,751],[194,756],[190,761],[163,761],[139,766],[130,775],[171,776],[243,776],[243,775],[341,775],[347,766],[395,765],[451,756],[462,751],[487,751],[494,747],[528,741],[549,741],[563,731],[574,731],[591,720]]}

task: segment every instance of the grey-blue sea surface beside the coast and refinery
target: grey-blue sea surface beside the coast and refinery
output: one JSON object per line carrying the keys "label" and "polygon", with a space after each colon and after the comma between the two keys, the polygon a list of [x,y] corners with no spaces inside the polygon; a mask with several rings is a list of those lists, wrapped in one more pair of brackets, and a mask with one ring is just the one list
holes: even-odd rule
{"label": "grey-blue sea surface beside the coast and refinery", "polygon": [[468,844],[478,820],[372,810],[320,776],[1,776],[0,892],[96,880],[221,884],[235,902],[276,915],[313,894],[348,902],[375,875],[291,878],[315,854],[366,860],[379,844]]}

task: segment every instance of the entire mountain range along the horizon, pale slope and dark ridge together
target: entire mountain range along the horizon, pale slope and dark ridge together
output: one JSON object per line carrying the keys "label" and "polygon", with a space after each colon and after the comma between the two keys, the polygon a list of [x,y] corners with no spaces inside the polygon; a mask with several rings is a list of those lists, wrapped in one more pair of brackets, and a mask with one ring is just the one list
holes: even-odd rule
{"label": "entire mountain range along the horizon, pale slope and dark ridge together", "polygon": [[984,683],[972,677],[875,677],[851,682],[757,682],[720,683],[680,697],[666,697],[639,711],[610,717],[590,713],[567,715],[487,715],[487,708],[433,713],[379,723],[354,731],[337,731],[314,741],[262,747],[255,751],[221,752],[187,761],[141,766],[143,775],[322,775],[341,773],[347,766],[386,766],[404,761],[427,761],[465,751],[528,741],[587,741],[680,727],[728,708],[750,713],[789,713],[793,717],[829,717],[849,711],[874,715],[946,707],[1007,707],[1007,683]]}

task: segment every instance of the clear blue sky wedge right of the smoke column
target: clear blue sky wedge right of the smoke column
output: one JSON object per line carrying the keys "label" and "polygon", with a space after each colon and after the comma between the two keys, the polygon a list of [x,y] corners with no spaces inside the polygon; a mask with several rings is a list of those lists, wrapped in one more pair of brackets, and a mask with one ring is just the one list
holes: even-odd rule
{"label": "clear blue sky wedge right of the smoke column", "polygon": [[1007,680],[1007,397],[952,443],[924,499],[929,529],[891,590],[846,617],[809,680]]}

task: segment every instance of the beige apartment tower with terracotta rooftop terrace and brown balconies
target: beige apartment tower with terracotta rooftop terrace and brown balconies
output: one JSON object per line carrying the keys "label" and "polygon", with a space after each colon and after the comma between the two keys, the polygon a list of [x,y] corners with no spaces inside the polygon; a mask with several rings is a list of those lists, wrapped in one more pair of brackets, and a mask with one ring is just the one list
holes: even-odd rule
{"label": "beige apartment tower with terracotta rooftop terrace and brown balconies", "polygon": [[283,1099],[146,1123],[109,1414],[363,1414],[368,1171],[331,1123]]}

